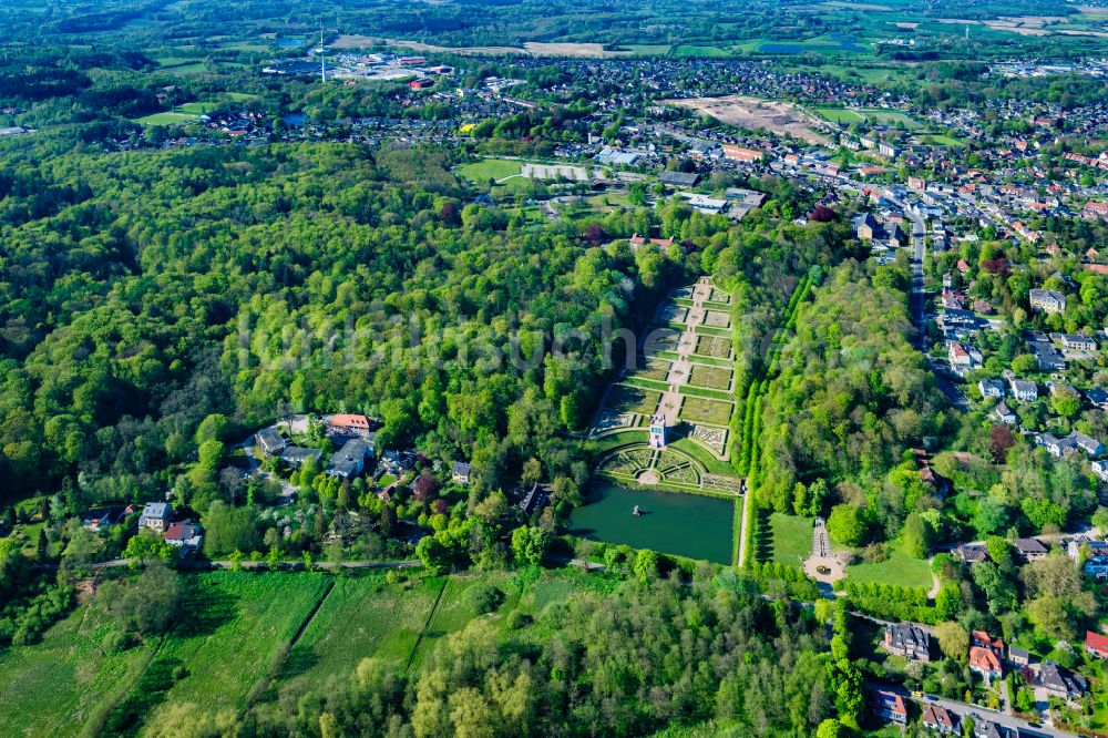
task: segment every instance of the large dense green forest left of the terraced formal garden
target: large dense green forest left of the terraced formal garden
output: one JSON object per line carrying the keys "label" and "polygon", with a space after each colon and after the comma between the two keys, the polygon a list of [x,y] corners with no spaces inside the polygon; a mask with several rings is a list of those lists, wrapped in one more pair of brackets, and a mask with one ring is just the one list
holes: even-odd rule
{"label": "large dense green forest left of the terraced formal garden", "polygon": [[[583,245],[572,223],[521,228],[466,204],[449,164],[353,145],[10,146],[8,492],[148,499],[205,417],[230,418],[229,441],[279,407],[365,411],[383,443],[464,451],[478,489],[536,455],[564,473],[554,431],[588,412],[603,325],[633,325],[636,298],[681,267]],[[547,356],[571,330],[583,338]]]}

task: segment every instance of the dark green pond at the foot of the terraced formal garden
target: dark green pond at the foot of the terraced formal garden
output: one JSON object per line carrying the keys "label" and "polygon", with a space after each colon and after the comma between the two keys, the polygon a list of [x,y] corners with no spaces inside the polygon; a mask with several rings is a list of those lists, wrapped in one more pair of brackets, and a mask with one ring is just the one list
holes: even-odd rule
{"label": "dark green pond at the foot of the terraced formal garden", "polygon": [[[643,513],[632,514],[638,505]],[[633,491],[594,484],[588,504],[570,516],[570,532],[593,541],[731,563],[735,503],[698,494]]]}

